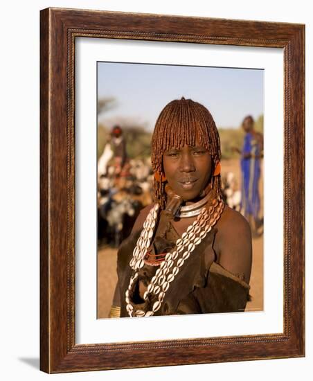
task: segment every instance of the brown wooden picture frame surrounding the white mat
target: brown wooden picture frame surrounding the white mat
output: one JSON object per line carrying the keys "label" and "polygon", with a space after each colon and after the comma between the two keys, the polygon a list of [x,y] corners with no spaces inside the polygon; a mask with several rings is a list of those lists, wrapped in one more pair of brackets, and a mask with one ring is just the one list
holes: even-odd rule
{"label": "brown wooden picture frame surrounding the white mat", "polygon": [[[305,26],[48,8],[41,11],[40,33],[40,369],[60,373],[303,357]],[[283,48],[283,333],[75,344],[76,37]]]}

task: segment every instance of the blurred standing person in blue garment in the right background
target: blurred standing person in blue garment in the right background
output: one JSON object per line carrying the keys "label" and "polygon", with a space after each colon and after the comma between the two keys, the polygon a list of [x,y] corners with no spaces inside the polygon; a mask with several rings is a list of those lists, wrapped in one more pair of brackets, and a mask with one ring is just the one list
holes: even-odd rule
{"label": "blurred standing person in blue garment in the right background", "polygon": [[242,121],[245,132],[242,150],[235,148],[241,154],[240,166],[242,172],[242,200],[240,211],[250,223],[252,233],[257,235],[262,225],[260,212],[260,159],[263,157],[263,135],[254,130],[254,120],[251,115]]}

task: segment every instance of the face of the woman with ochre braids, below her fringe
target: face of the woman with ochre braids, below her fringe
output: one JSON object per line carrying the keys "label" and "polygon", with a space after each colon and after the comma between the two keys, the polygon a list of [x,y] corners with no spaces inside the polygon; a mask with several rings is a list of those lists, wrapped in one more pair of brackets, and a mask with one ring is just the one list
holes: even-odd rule
{"label": "face of the woman with ochre braids, below her fringe", "polygon": [[186,201],[195,200],[211,177],[212,159],[196,141],[194,147],[172,148],[163,154],[163,169],[168,184]]}

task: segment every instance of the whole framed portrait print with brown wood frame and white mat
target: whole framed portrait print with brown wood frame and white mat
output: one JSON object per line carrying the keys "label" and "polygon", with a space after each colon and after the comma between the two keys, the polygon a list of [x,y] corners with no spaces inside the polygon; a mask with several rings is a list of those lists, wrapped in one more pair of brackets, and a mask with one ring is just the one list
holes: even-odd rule
{"label": "whole framed portrait print with brown wood frame and white mat", "polygon": [[304,356],[304,30],[42,10],[42,371]]}

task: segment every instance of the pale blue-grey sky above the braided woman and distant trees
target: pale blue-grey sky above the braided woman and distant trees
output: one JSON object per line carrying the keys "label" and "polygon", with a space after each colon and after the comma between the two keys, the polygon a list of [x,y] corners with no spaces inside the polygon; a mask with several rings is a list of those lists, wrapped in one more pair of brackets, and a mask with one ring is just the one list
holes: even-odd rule
{"label": "pale blue-grey sky above the braided woman and distant trees", "polygon": [[102,114],[108,127],[115,118],[147,123],[153,130],[161,109],[182,96],[202,103],[217,127],[238,127],[247,114],[263,114],[262,69],[188,67],[98,62],[98,97],[116,98]]}

